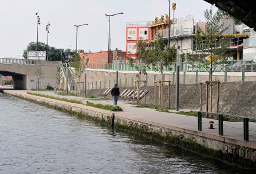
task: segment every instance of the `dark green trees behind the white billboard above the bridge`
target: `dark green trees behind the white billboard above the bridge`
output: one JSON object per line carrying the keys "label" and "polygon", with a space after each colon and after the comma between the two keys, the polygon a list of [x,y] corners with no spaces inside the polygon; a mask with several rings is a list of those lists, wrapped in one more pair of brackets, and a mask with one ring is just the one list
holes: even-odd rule
{"label": "dark green trees behind the white billboard above the bridge", "polygon": [[[36,42],[30,42],[27,45],[27,49],[23,51],[23,57],[27,58],[28,51],[36,50]],[[38,51],[46,51],[47,44],[43,42],[38,42]],[[74,54],[70,49],[56,49],[55,47],[49,46],[48,48],[48,59],[49,61],[63,61],[66,62],[70,55]]]}

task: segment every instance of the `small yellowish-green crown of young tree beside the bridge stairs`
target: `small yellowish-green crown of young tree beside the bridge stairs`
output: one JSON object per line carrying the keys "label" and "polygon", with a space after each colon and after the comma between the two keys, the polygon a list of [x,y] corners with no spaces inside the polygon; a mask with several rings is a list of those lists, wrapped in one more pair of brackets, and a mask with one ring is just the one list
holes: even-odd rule
{"label": "small yellowish-green crown of young tree beside the bridge stairs", "polygon": [[81,80],[81,76],[83,72],[85,72],[86,64],[84,64],[83,60],[80,58],[79,54],[74,51],[74,55],[71,58],[70,65],[72,68],[72,73],[74,76],[79,79],[79,82]]}

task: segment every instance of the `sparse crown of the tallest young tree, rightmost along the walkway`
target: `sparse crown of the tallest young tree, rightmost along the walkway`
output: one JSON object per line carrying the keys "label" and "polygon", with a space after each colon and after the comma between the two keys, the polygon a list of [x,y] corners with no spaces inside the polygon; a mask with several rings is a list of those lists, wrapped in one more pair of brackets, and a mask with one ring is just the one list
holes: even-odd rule
{"label": "sparse crown of the tallest young tree, rightmost along the walkway", "polygon": [[191,61],[195,68],[204,68],[209,72],[209,80],[213,79],[213,72],[218,65],[222,65],[226,61],[226,50],[228,40],[221,35],[228,27],[220,24],[222,13],[213,12],[213,6],[210,10],[204,11],[206,18],[206,32],[199,29],[199,33],[195,35],[195,53],[186,54],[186,58]]}

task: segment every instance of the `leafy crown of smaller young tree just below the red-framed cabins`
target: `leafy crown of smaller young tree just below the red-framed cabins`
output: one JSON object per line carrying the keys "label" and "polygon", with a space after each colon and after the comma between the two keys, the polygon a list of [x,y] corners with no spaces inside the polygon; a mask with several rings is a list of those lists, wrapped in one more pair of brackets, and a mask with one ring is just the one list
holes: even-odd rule
{"label": "leafy crown of smaller young tree just below the red-framed cabins", "polygon": [[129,64],[131,67],[134,67],[136,71],[138,71],[138,80],[141,79],[141,75],[147,75],[147,67],[151,64],[149,57],[148,57],[149,50],[147,49],[147,43],[143,42],[142,40],[138,40],[137,42],[137,52],[136,58],[127,57]]}

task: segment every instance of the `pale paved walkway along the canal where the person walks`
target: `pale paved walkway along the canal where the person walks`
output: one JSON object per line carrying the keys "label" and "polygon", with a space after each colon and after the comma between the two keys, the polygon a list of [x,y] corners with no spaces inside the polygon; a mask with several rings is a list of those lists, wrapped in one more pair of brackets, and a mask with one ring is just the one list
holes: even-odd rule
{"label": "pale paved walkway along the canal where the person walks", "polygon": [[[19,94],[27,94],[27,91],[17,91]],[[112,105],[111,100],[97,100],[96,98],[83,98],[75,96],[65,96],[54,94],[53,91],[31,91],[34,93],[52,95],[59,98],[76,99],[86,103],[87,101],[93,103],[103,103]],[[73,103],[75,106],[75,103]],[[127,101],[118,101],[118,105],[123,109],[123,112],[116,113],[116,116],[125,117],[126,119],[141,121],[143,123],[153,124],[164,128],[170,128],[189,134],[205,136],[207,138],[217,139],[236,145],[251,147],[256,149],[256,123],[249,123],[249,142],[243,140],[243,122],[227,122],[224,121],[224,136],[218,135],[218,120],[202,119],[203,131],[198,131],[198,117],[184,116],[176,113],[158,112],[155,109],[136,108]],[[101,109],[100,109],[101,110]],[[104,110],[101,110],[101,112]],[[107,112],[107,111],[106,111]],[[109,111],[108,111],[109,113]],[[214,128],[209,129],[209,121],[214,121]]]}

